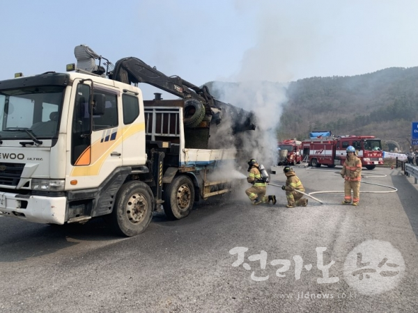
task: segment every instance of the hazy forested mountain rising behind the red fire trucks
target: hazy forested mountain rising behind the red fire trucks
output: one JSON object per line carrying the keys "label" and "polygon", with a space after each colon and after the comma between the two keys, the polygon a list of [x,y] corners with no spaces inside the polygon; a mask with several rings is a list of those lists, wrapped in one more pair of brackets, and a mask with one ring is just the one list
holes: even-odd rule
{"label": "hazy forested mountain rising behind the red fire trucks", "polygon": [[[266,82],[267,83],[267,82]],[[222,100],[218,84],[208,83]],[[283,88],[279,83],[276,88]],[[212,88],[211,88],[212,87]],[[271,86],[270,86],[271,88]],[[288,84],[277,129],[279,139],[307,138],[311,130],[373,135],[409,147],[418,120],[418,67],[391,67],[353,77],[311,77]]]}

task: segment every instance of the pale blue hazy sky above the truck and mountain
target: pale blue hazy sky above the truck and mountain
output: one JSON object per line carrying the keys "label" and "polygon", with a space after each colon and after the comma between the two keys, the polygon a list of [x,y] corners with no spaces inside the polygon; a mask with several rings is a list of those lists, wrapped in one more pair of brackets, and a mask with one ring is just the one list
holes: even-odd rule
{"label": "pale blue hazy sky above the truck and mountain", "polygon": [[63,71],[79,44],[195,85],[418,65],[417,0],[4,0],[0,9],[0,79]]}

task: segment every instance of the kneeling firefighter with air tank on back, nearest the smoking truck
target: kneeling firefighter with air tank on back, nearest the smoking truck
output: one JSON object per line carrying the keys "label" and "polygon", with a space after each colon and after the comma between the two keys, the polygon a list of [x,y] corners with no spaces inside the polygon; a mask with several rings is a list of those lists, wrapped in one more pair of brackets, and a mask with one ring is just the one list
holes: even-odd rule
{"label": "kneeling firefighter with air tank on back, nearest the smoking truck", "polygon": [[249,200],[252,204],[257,205],[260,203],[270,203],[276,204],[276,196],[269,195],[265,196],[265,191],[267,189],[266,183],[261,179],[261,172],[258,170],[258,163],[255,159],[250,159],[248,161],[248,170],[249,172],[247,177],[247,182],[253,184],[252,187],[248,188],[245,193],[247,193]]}

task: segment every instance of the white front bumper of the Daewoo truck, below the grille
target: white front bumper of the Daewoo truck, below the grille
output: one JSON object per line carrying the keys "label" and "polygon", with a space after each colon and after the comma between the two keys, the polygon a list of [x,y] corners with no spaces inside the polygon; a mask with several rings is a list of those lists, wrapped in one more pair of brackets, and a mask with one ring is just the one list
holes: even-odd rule
{"label": "white front bumper of the Daewoo truck, below the grille", "polygon": [[0,193],[0,216],[21,218],[33,223],[65,223],[67,198]]}

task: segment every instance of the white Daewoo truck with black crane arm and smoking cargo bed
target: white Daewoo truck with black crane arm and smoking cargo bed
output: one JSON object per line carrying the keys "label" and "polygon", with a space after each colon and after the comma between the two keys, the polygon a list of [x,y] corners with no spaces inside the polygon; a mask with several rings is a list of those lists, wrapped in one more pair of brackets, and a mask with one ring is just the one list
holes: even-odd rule
{"label": "white Daewoo truck with black crane arm and smoking cargo bed", "polygon": [[[210,126],[229,114],[234,133],[251,130],[251,113],[137,58],[113,66],[85,45],[75,56],[67,72],[0,81],[1,215],[59,225],[103,216],[135,236],[161,207],[184,218],[231,191],[213,174],[234,166],[236,150],[208,149]],[[179,99],[144,101],[141,82]]]}

